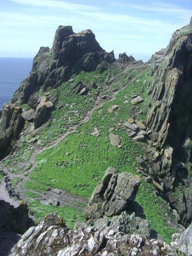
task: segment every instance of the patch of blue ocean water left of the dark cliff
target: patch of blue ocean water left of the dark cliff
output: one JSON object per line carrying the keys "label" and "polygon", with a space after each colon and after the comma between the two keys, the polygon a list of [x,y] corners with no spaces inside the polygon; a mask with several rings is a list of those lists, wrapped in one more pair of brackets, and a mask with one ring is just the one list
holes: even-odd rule
{"label": "patch of blue ocean water left of the dark cliff", "polygon": [[0,58],[0,110],[29,76],[33,58]]}

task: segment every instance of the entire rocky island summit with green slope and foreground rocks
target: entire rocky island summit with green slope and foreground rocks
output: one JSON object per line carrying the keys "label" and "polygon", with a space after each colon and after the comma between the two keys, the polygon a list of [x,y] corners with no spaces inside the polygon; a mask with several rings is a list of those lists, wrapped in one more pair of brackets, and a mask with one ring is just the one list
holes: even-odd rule
{"label": "entire rocky island summit with green slope and foreground rocks", "polygon": [[10,255],[192,255],[191,99],[192,19],[147,63],[59,26],[0,111]]}

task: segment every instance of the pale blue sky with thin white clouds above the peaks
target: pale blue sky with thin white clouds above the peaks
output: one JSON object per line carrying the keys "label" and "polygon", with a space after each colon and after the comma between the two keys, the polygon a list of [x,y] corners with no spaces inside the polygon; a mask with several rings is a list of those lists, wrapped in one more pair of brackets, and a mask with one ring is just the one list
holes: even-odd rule
{"label": "pale blue sky with thin white clouds above the peaks", "polygon": [[59,25],[91,29],[107,52],[146,61],[190,23],[191,0],[0,0],[0,57],[33,58]]}

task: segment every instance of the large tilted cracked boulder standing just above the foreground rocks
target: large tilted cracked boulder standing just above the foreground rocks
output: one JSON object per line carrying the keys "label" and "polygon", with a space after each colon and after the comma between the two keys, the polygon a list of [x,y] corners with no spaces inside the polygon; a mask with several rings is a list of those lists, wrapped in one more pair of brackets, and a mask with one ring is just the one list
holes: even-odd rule
{"label": "large tilted cracked boulder standing just above the foreground rocks", "polygon": [[86,222],[94,225],[98,218],[118,215],[127,209],[135,198],[140,182],[138,175],[118,174],[115,168],[109,167],[85,209]]}

